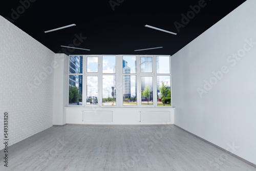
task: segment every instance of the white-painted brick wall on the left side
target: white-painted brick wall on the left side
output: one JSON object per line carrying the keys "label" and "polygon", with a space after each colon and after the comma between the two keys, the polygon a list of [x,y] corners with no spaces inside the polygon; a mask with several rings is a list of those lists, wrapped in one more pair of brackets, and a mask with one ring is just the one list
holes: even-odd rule
{"label": "white-painted brick wall on the left side", "polygon": [[[0,16],[0,150],[4,112],[9,112],[9,145],[52,126],[54,53]],[[45,78],[29,90],[34,76]],[[31,86],[30,85],[30,86]]]}

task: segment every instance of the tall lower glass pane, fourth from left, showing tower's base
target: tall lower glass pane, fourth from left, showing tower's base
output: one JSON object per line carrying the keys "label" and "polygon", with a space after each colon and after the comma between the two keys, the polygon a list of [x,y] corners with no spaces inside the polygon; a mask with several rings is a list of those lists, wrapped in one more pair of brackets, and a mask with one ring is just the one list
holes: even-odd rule
{"label": "tall lower glass pane, fourth from left, showing tower's base", "polygon": [[136,75],[123,75],[123,105],[137,105]]}

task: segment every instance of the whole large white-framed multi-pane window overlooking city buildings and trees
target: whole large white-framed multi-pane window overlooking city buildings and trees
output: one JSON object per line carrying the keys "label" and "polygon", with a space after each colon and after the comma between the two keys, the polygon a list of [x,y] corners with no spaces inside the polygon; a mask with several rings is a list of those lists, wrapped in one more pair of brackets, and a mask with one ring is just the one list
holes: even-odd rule
{"label": "whole large white-framed multi-pane window overlooking city buildings and trees", "polygon": [[69,105],[168,108],[168,55],[70,55]]}

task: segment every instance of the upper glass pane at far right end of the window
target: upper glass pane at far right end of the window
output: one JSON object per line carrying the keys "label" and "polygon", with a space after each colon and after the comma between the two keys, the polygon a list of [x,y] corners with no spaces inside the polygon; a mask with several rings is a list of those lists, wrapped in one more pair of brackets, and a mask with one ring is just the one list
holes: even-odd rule
{"label": "upper glass pane at far right end of the window", "polygon": [[157,56],[157,74],[169,74],[169,73],[170,73],[170,57]]}

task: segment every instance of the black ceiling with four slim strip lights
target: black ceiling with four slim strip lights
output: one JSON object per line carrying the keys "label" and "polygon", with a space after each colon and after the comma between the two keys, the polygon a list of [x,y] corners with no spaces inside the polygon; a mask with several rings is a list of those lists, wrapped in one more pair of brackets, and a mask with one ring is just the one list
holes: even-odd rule
{"label": "black ceiling with four slim strip lights", "polygon": [[[203,2],[203,0],[20,0],[5,1],[5,5],[1,5],[0,14],[8,17],[14,25],[55,53],[173,55],[245,0]],[[200,7],[200,12],[194,17],[190,12],[189,23],[177,30],[174,23],[182,24],[182,14],[187,15],[191,11],[191,6],[199,4],[203,6]],[[15,16],[16,12],[20,13],[19,16]],[[47,30],[71,24],[76,26],[45,33]],[[160,32],[146,28],[145,25],[178,34]],[[75,41],[74,45],[77,36],[83,37],[80,45],[79,41]],[[61,45],[91,51],[62,49]],[[154,47],[163,48],[134,51]]]}

